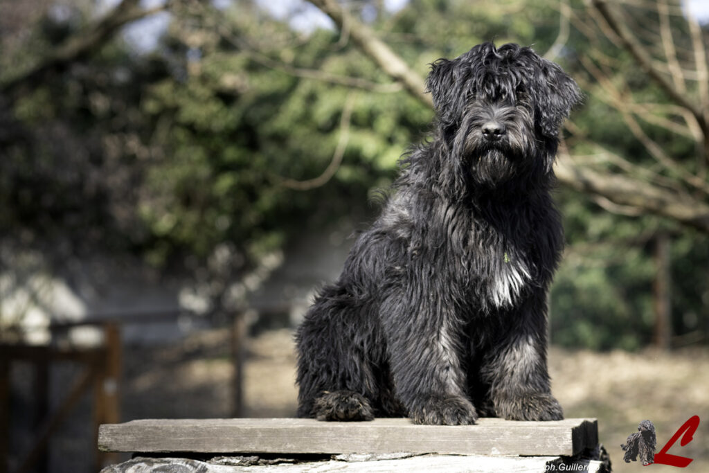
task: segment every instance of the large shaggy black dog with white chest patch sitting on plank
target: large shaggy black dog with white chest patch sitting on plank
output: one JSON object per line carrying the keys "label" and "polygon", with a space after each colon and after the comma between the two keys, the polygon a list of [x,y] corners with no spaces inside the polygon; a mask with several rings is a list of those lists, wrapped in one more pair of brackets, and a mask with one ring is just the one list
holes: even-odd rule
{"label": "large shaggy black dog with white chest patch sitting on plank", "polygon": [[438,60],[432,140],[298,329],[298,416],[561,419],[547,288],[563,235],[550,196],[576,83],[530,48]]}

